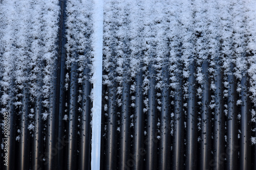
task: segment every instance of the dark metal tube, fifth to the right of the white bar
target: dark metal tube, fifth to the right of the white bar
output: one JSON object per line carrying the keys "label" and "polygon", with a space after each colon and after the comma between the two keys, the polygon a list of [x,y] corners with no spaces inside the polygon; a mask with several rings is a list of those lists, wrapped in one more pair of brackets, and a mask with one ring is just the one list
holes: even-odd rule
{"label": "dark metal tube, fifth to the right of the white bar", "polygon": [[169,75],[166,67],[163,67],[163,79],[166,84],[162,89],[162,108],[160,115],[160,155],[158,159],[159,169],[170,169],[170,93],[169,93]]}

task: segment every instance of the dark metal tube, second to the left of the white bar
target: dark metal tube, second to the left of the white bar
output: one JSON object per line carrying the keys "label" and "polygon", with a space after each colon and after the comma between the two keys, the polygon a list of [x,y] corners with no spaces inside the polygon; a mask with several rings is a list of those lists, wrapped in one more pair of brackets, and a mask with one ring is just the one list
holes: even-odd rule
{"label": "dark metal tube, second to the left of the white bar", "polygon": [[70,70],[70,103],[69,103],[69,136],[68,136],[68,169],[77,169],[77,63],[71,63]]}

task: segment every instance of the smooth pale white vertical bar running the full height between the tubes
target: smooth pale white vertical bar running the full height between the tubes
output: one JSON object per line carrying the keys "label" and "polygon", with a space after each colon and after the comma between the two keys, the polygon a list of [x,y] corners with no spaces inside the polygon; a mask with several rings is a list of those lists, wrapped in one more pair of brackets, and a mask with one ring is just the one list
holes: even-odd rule
{"label": "smooth pale white vertical bar running the full height between the tubes", "polygon": [[93,89],[92,89],[92,162],[93,170],[100,169],[100,131],[102,95],[103,0],[94,0],[93,10]]}

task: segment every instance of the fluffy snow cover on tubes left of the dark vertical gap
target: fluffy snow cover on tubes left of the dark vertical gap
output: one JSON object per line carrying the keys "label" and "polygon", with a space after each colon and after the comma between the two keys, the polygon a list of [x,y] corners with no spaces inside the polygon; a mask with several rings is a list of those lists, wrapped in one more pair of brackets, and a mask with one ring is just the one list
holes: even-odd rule
{"label": "fluffy snow cover on tubes left of the dark vertical gap", "polygon": [[12,98],[20,107],[26,87],[31,101],[42,95],[48,107],[56,69],[58,1],[1,1],[0,11],[2,112]]}

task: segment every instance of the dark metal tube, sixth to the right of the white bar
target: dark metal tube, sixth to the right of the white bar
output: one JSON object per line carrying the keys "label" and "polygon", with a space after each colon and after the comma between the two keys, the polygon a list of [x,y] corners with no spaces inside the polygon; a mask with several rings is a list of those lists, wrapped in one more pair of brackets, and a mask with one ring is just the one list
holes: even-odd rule
{"label": "dark metal tube, sixth to the right of the white bar", "polygon": [[183,111],[183,79],[177,75],[178,84],[174,96],[174,139],[173,168],[184,169],[184,111]]}

